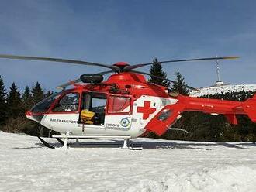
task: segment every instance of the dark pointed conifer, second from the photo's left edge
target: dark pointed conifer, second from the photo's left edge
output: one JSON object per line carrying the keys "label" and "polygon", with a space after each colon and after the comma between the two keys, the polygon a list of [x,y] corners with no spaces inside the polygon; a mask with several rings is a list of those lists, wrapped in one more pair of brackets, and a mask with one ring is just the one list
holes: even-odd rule
{"label": "dark pointed conifer, second from the photo's left edge", "polygon": [[23,113],[22,109],[22,99],[20,93],[16,87],[15,83],[12,83],[10,87],[9,94],[7,96],[7,105],[8,105],[8,117],[17,118]]}

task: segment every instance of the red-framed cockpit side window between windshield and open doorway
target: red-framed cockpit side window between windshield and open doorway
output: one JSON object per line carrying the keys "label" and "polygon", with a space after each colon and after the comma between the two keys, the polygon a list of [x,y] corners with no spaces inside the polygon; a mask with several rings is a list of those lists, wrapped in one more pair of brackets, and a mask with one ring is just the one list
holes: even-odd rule
{"label": "red-framed cockpit side window between windshield and open doorway", "polygon": [[52,109],[53,112],[78,111],[79,94],[68,93],[57,102]]}

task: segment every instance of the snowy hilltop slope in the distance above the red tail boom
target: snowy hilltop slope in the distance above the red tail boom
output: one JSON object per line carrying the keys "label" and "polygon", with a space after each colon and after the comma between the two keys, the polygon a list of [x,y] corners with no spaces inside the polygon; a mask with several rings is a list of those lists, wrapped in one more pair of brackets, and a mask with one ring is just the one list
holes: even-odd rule
{"label": "snowy hilltop slope in the distance above the red tail boom", "polygon": [[222,85],[213,87],[202,87],[200,91],[190,91],[189,95],[192,97],[200,97],[202,95],[218,94],[223,92],[239,92],[239,91],[256,91],[256,84],[237,84],[237,85]]}

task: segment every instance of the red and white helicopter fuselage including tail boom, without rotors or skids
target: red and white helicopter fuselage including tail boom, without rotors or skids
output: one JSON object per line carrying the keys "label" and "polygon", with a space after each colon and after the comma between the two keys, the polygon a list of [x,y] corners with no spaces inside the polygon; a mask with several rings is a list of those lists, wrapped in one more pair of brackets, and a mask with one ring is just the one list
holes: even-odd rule
{"label": "red and white helicopter fuselage including tail boom, without rotors or skids", "polygon": [[[166,87],[147,83],[141,74],[113,74],[102,84],[74,84],[35,105],[27,118],[61,134],[162,135],[183,111],[223,114],[237,124],[236,114],[256,122],[256,96],[245,102],[191,98],[170,94]],[[83,113],[92,115],[87,120]]]}

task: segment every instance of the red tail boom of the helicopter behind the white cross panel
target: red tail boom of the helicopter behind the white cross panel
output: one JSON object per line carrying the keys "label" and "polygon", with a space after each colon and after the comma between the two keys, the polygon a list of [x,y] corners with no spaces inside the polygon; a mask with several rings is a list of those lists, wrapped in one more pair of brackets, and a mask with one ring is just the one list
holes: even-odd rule
{"label": "red tail boom of the helicopter behind the white cross panel", "polygon": [[[169,117],[162,120],[161,115],[169,111]],[[209,114],[223,114],[230,124],[237,125],[237,114],[247,115],[252,122],[256,122],[256,94],[247,101],[225,101],[208,98],[191,98],[179,96],[175,105],[165,106],[151,121],[146,129],[162,135],[168,127],[175,123],[179,114],[184,111],[201,111]],[[171,114],[171,115],[170,115]]]}

